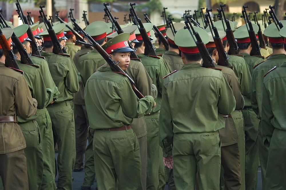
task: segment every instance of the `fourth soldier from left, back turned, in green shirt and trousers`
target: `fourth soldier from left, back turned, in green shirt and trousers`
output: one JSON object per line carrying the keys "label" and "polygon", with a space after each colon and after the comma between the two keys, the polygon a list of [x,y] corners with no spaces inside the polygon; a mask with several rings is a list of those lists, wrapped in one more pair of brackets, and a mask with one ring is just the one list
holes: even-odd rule
{"label": "fourth soldier from left, back turned, in green shirt and trousers", "polygon": [[[63,23],[53,26],[61,45],[65,42],[64,27]],[[47,31],[41,33],[41,36],[43,36],[46,48],[41,55],[47,60],[53,81],[60,92],[55,102],[47,106],[51,116],[54,144],[57,143],[59,149],[57,188],[72,189],[76,143],[74,115],[70,102],[73,99],[72,93],[76,93],[79,89],[77,71],[69,55],[52,52],[53,43]]]}

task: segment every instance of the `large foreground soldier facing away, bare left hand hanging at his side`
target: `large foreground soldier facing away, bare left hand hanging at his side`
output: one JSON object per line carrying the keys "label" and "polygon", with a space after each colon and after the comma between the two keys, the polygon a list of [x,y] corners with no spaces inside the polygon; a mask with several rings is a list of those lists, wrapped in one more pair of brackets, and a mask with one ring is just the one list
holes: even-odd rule
{"label": "large foreground soldier facing away, bare left hand hanging at his side", "polygon": [[[196,31],[208,43],[207,32],[200,28]],[[195,189],[197,171],[200,189],[219,189],[218,130],[225,127],[221,114],[234,111],[235,98],[221,71],[202,67],[201,55],[188,30],[179,30],[174,41],[182,51],[184,66],[164,79],[159,119],[164,163],[172,168],[174,161],[178,189]]]}

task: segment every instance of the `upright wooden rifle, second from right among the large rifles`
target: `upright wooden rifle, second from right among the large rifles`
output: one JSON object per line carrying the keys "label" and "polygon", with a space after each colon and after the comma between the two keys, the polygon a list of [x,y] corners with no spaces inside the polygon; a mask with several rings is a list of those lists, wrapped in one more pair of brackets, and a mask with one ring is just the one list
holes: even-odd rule
{"label": "upright wooden rifle, second from right among the large rifles", "polygon": [[[256,38],[256,35],[255,35],[255,32],[254,32],[252,23],[251,23],[251,21],[249,20],[249,18],[247,16],[246,8],[248,8],[248,6],[244,6],[243,5],[242,17],[244,18],[245,25],[246,25],[246,28],[248,30],[248,35],[249,35],[249,38],[250,38],[251,46],[252,46],[251,54],[252,55],[259,55],[259,56],[261,56],[260,47],[259,47],[259,44],[257,42],[257,38]],[[247,24],[249,26],[249,29],[247,27]]]}

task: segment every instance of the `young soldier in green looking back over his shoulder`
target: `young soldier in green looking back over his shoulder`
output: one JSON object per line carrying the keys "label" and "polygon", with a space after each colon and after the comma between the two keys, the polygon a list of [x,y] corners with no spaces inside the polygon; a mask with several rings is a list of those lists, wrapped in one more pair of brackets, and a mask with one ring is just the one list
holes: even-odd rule
{"label": "young soldier in green looking back over his shoulder", "polygon": [[[129,33],[122,33],[103,45],[114,61],[120,61],[122,70],[128,68],[133,51],[127,43],[129,37]],[[130,124],[132,118],[150,113],[155,102],[152,96],[139,100],[132,91],[128,79],[112,72],[109,66],[101,67],[86,83],[86,108],[90,128],[95,129],[93,148],[99,189],[114,189],[117,178],[118,189],[143,189],[140,150]]]}

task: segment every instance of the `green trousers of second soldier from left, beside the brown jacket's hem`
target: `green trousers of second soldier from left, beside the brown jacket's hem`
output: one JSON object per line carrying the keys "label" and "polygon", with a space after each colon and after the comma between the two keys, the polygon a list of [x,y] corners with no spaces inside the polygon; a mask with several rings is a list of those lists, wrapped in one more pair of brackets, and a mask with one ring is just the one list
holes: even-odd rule
{"label": "green trousers of second soldier from left, beside the brown jacket's hem", "polygon": [[19,123],[23,132],[26,148],[24,152],[27,158],[27,171],[29,189],[41,189],[43,179],[43,151],[41,136],[36,121]]}

